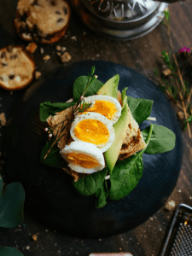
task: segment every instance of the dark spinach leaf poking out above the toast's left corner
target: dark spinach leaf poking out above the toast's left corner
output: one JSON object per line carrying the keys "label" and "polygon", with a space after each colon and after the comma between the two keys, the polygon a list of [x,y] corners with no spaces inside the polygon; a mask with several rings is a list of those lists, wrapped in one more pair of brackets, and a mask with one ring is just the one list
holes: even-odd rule
{"label": "dark spinach leaf poking out above the toast's left corner", "polygon": [[39,116],[42,122],[46,122],[49,115],[54,115],[56,112],[61,112],[66,108],[74,106],[76,102],[44,102],[40,104]]}

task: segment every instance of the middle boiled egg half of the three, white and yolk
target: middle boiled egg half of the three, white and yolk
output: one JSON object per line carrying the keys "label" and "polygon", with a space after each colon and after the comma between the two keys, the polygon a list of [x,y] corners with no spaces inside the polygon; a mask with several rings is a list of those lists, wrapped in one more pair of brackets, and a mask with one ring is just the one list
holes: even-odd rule
{"label": "middle boiled egg half of the three, white and yolk", "polygon": [[73,120],[70,133],[73,140],[92,143],[102,152],[107,151],[114,141],[113,124],[101,113],[80,114]]}

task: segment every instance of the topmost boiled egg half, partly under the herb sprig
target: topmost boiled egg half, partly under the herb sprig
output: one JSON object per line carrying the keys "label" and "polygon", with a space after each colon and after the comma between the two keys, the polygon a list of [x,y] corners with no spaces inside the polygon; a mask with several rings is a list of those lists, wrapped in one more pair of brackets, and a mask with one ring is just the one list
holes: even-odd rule
{"label": "topmost boiled egg half, partly under the herb sprig", "polygon": [[[111,96],[88,96],[84,97],[84,102],[92,102],[92,107],[87,108],[86,112],[101,113],[109,119],[113,125],[118,121],[121,114],[121,106],[117,99]],[[81,114],[81,113],[79,113]]]}

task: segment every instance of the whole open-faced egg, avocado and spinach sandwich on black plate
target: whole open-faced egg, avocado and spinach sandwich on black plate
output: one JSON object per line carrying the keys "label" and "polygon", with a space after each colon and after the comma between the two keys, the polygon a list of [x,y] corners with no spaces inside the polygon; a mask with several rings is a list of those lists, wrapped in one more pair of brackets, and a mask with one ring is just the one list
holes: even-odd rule
{"label": "whole open-faced egg, avocado and spinach sandwich on black plate", "polygon": [[[119,200],[137,185],[144,151],[172,150],[175,135],[155,124],[140,131],[153,101],[126,96],[127,88],[120,93],[119,75],[102,84],[94,72],[92,67],[88,77],[75,80],[73,99],[40,105],[40,119],[49,125],[49,142],[40,160],[62,168],[81,195],[95,194],[96,207],[104,207],[107,198]],[[167,143],[160,143],[165,134]]]}

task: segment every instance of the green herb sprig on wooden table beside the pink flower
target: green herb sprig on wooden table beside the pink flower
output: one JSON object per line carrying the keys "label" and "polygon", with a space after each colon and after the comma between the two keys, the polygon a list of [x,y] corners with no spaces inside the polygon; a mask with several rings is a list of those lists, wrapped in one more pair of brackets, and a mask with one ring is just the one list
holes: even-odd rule
{"label": "green herb sprig on wooden table beside the pink flower", "polygon": [[[170,99],[175,102],[178,106],[178,108],[182,109],[182,114],[184,117],[184,129],[188,128],[189,131],[189,137],[191,138],[191,131],[189,127],[189,123],[192,123],[192,108],[190,103],[190,98],[192,94],[192,88],[189,88],[189,82],[183,80],[183,73],[185,71],[185,68],[183,68],[183,71],[180,71],[180,68],[177,63],[177,58],[174,53],[174,48],[172,44],[172,37],[171,37],[171,29],[170,29],[170,12],[168,9],[165,9],[163,12],[165,14],[165,18],[162,18],[162,24],[166,26],[167,29],[167,37],[169,38],[169,44],[171,47],[171,52],[166,53],[166,50],[163,50],[161,52],[161,59],[164,61],[166,66],[168,67],[168,70],[166,70],[167,76],[170,75],[171,79],[166,79],[165,75],[162,75],[162,78],[160,78],[160,74],[158,72],[158,69],[154,69],[154,73],[156,76],[158,76],[158,83],[160,84],[160,89],[163,90],[164,93],[166,93]],[[192,51],[192,49],[191,49]],[[192,54],[190,53],[184,53],[184,55],[187,58],[187,63],[191,61]],[[192,73],[191,73],[192,76]]]}

